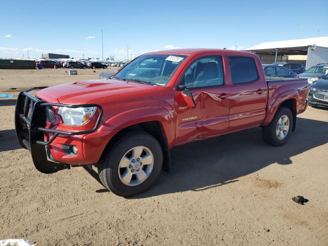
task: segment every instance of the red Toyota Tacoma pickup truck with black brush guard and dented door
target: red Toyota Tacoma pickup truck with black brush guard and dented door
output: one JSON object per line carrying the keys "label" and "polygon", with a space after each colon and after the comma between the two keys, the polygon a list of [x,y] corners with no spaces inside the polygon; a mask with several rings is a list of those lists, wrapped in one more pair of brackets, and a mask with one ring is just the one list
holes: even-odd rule
{"label": "red Toyota Tacoma pickup truck with black brush guard and dented door", "polygon": [[21,92],[16,134],[40,172],[96,165],[107,189],[131,196],[170,168],[174,146],[253,127],[284,145],[308,93],[306,79],[265,78],[253,53],[158,51],[107,80]]}

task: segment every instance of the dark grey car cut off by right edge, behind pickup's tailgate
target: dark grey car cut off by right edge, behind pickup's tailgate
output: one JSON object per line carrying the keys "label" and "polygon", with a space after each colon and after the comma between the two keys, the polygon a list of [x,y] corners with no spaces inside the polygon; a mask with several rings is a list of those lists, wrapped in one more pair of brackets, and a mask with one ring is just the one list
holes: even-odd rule
{"label": "dark grey car cut off by right edge, behind pickup's tailgate", "polygon": [[328,74],[310,86],[309,105],[328,107]]}

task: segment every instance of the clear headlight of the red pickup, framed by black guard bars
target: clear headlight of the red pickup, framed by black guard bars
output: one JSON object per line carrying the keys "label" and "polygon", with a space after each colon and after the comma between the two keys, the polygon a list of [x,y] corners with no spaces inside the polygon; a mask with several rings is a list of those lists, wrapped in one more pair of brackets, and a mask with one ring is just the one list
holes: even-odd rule
{"label": "clear headlight of the red pickup, framed by black guard bars", "polygon": [[65,125],[82,126],[85,125],[96,111],[96,107],[89,108],[67,108],[59,107],[57,114],[61,116]]}

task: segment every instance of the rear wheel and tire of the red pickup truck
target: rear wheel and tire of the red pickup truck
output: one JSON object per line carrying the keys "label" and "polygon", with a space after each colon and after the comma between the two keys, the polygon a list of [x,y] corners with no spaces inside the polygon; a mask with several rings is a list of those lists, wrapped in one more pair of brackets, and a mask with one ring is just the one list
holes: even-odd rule
{"label": "rear wheel and tire of the red pickup truck", "polygon": [[[286,119],[285,116],[288,119]],[[278,122],[280,122],[279,126]],[[294,120],[291,110],[286,107],[280,107],[273,117],[271,123],[268,126],[262,127],[262,136],[264,141],[274,147],[283,146],[290,138],[293,124]],[[287,126],[288,130],[286,130]]]}

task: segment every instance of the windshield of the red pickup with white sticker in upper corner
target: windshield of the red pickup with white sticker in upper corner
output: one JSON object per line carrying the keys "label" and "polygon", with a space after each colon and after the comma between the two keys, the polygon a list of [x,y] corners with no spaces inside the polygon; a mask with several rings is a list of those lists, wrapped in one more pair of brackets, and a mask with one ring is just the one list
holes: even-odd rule
{"label": "windshield of the red pickup with white sticker in upper corner", "polygon": [[114,78],[166,86],[186,55],[141,55]]}

